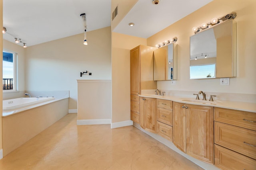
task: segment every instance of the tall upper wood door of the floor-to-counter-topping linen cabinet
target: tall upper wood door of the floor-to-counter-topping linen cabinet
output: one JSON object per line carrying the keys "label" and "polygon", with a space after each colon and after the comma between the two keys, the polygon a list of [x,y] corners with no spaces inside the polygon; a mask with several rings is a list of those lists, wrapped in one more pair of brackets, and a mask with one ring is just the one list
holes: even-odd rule
{"label": "tall upper wood door of the floor-to-counter-topping linen cabinet", "polygon": [[140,46],[130,51],[131,94],[140,93]]}

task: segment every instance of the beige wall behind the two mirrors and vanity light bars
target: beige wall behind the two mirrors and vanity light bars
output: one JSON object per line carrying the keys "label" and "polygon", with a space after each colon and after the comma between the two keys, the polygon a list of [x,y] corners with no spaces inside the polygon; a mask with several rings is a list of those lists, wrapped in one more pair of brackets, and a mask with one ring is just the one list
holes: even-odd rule
{"label": "beige wall behind the two mirrors and vanity light bars", "polygon": [[[184,90],[207,92],[227,92],[256,94],[256,1],[255,0],[214,0],[196,12],[170,25],[147,39],[147,45],[164,41],[168,37],[178,37],[178,80],[176,86],[170,81],[158,82],[158,88],[164,90]],[[220,79],[190,80],[189,57],[192,27],[209,22],[214,17],[221,17],[229,12],[236,12],[237,22],[237,77],[230,78],[230,86],[220,86]],[[249,102],[249,101],[248,101]]]}

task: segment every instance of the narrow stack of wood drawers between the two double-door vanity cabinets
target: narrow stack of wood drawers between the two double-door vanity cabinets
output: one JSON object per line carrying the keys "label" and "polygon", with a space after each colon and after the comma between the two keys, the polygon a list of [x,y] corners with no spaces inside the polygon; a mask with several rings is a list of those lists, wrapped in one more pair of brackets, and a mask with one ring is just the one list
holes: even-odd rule
{"label": "narrow stack of wood drawers between the two double-door vanity cabinets", "polygon": [[156,99],[157,133],[172,141],[172,101]]}

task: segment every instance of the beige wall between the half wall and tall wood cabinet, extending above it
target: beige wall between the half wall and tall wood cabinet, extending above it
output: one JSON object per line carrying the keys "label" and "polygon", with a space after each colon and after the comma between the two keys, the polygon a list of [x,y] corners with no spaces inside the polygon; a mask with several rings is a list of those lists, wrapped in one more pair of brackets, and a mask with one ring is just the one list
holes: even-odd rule
{"label": "beige wall between the half wall and tall wood cabinet, extending above it", "polygon": [[130,120],[130,49],[146,39],[112,32],[112,123]]}

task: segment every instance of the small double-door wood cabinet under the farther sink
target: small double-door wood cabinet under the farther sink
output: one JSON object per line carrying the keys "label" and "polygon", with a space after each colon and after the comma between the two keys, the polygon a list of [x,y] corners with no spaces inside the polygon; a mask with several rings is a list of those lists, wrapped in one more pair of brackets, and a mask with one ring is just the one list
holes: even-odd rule
{"label": "small double-door wood cabinet under the farther sink", "polygon": [[156,99],[140,97],[140,126],[156,133]]}

